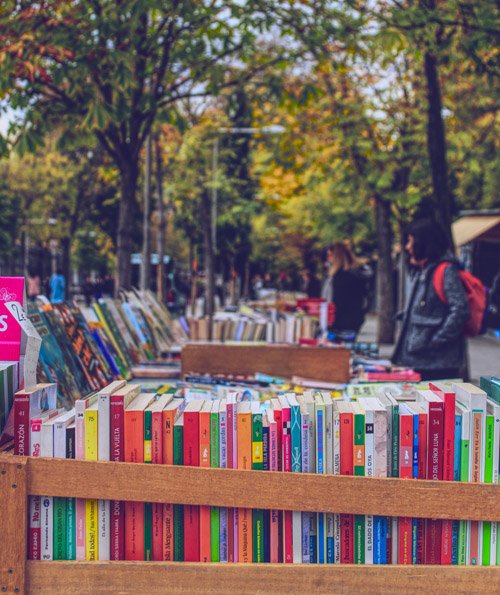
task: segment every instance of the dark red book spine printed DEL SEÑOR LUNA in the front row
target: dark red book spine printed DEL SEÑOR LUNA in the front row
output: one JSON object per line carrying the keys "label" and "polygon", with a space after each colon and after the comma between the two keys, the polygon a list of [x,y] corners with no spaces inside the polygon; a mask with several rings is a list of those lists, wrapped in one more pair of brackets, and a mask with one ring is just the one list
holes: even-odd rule
{"label": "dark red book spine printed DEL SE\u00d1OR LUNA in the front row", "polygon": [[[429,403],[427,418],[427,479],[443,479],[444,403]],[[425,520],[425,564],[441,563],[441,521]]]}

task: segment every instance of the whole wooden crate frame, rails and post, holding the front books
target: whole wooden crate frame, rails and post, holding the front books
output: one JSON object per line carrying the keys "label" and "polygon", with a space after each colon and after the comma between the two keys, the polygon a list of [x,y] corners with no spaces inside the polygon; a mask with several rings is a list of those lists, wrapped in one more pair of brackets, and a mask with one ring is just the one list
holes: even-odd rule
{"label": "whole wooden crate frame, rails and post, holding the front books", "polygon": [[498,485],[0,454],[2,593],[499,593],[500,567],[27,561],[29,495],[500,521]]}

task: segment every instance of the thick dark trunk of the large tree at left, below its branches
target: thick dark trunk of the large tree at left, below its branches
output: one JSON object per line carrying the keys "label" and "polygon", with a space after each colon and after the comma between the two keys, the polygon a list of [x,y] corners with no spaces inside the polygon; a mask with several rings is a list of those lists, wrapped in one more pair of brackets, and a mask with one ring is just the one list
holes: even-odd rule
{"label": "thick dark trunk of the large tree at left, below its branches", "polygon": [[118,214],[116,289],[130,289],[130,257],[132,255],[132,222],[137,192],[137,161],[120,167],[121,200]]}

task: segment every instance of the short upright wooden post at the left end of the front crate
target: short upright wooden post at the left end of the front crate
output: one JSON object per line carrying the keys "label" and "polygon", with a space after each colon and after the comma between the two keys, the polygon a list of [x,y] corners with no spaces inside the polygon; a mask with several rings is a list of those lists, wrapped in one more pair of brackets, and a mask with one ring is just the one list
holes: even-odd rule
{"label": "short upright wooden post at the left end of the front crate", "polygon": [[2,455],[0,459],[0,590],[23,593],[27,556],[27,478],[24,457]]}

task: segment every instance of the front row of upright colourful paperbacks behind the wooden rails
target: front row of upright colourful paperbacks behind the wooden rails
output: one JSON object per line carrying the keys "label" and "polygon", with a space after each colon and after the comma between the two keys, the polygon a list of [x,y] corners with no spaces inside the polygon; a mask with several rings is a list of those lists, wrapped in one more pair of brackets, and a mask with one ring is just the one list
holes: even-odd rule
{"label": "front row of upright colourful paperbacks behind the wooden rails", "polygon": [[[57,410],[19,391],[15,454],[498,483],[500,380],[430,383],[414,399],[324,391],[216,398],[115,381]],[[206,393],[203,393],[206,394]],[[217,398],[222,395],[222,398]],[[244,400],[248,399],[248,400]],[[278,504],[278,503],[277,503]],[[33,497],[30,558],[494,565],[498,525],[335,513]]]}

